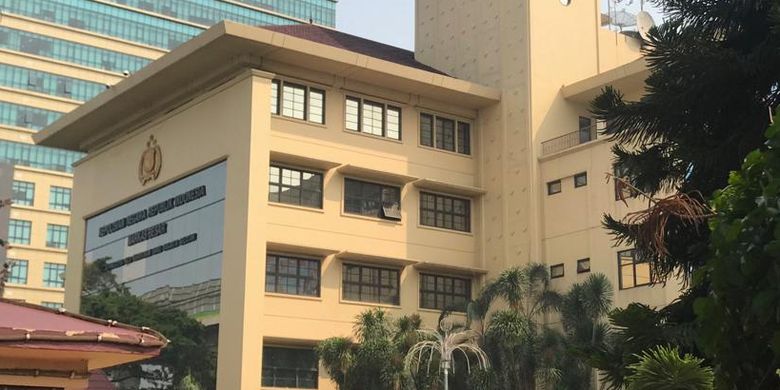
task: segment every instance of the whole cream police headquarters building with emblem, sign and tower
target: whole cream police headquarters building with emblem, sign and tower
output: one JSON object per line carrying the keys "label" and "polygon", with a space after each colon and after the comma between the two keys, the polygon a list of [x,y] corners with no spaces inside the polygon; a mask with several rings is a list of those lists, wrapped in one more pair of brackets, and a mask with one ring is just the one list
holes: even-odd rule
{"label": "whole cream police headquarters building with emblem, sign and tower", "polygon": [[668,302],[674,286],[647,286],[599,223],[631,207],[602,180],[587,104],[606,84],[638,96],[646,73],[599,18],[592,2],[419,0],[416,53],[212,27],[35,136],[87,154],[66,307],[83,263],[107,259],[134,293],[218,326],[219,389],[332,389],[312,347],[358,313],[432,327],[513,265]]}

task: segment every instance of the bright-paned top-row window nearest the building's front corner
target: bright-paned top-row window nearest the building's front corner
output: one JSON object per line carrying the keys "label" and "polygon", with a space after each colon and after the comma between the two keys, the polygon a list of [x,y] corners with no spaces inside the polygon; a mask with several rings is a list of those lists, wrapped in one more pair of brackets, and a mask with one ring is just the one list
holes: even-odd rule
{"label": "bright-paned top-row window nearest the building's front corner", "polygon": [[271,113],[276,115],[281,113],[288,118],[324,124],[325,91],[274,80],[271,84]]}

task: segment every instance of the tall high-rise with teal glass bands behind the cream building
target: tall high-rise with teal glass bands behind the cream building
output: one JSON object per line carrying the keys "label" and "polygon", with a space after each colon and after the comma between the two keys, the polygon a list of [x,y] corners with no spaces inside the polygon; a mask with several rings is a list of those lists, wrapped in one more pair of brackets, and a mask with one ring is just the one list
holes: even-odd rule
{"label": "tall high-rise with teal glass bands behind the cream building", "polygon": [[333,0],[0,0],[0,11],[0,163],[14,167],[3,297],[53,308],[64,298],[71,164],[83,155],[35,147],[32,135],[220,20],[335,24]]}

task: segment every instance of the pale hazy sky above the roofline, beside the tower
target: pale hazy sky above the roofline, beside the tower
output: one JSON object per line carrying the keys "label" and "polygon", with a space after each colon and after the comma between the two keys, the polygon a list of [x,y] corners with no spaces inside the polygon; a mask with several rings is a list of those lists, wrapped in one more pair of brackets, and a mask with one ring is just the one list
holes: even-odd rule
{"label": "pale hazy sky above the roofline, beside the tower", "polygon": [[[336,28],[349,34],[414,50],[414,1],[339,0],[336,5]],[[634,13],[639,10],[640,0],[618,1],[618,8],[628,8]],[[659,22],[659,13],[656,10],[650,12],[656,23]]]}

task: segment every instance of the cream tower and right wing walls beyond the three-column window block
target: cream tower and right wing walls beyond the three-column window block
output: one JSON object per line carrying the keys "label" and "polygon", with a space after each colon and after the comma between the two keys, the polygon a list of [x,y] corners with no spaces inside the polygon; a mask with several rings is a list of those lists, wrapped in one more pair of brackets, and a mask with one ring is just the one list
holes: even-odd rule
{"label": "cream tower and right wing walls beyond the three-column window block", "polygon": [[[601,88],[613,85],[629,99],[642,95],[648,72],[641,42],[602,28],[595,0],[568,6],[418,0],[416,11],[419,61],[502,91],[499,105],[479,113],[487,142],[482,169],[490,275],[531,261],[563,264],[564,275],[553,284],[565,291],[588,275],[577,273],[577,260],[589,259],[591,272],[612,281],[617,306],[663,305],[676,298],[676,282],[620,288],[621,273],[628,278],[634,271],[621,271],[618,252],[630,248],[614,247],[601,218],[622,217],[643,205],[617,201],[613,183],[606,182],[613,172],[610,143],[577,139],[579,117],[591,117],[590,101]],[[570,144],[544,149],[562,139]],[[574,175],[581,173],[587,185],[576,188]],[[558,180],[561,192],[548,195],[547,183]],[[640,268],[637,276],[647,273],[646,265]]]}

